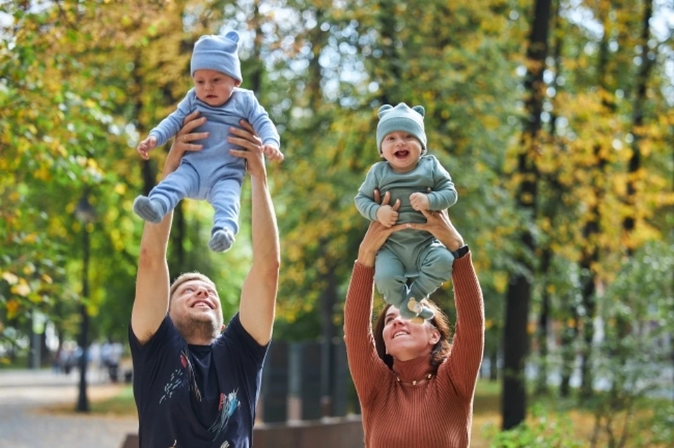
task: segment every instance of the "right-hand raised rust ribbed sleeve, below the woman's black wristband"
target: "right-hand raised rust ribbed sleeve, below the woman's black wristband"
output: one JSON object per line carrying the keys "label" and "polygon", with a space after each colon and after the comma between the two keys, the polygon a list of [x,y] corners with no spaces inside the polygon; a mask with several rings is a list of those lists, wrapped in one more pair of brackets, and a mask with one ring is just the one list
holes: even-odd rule
{"label": "right-hand raised rust ribbed sleeve, below the woman's black wristband", "polygon": [[456,305],[454,341],[438,377],[449,376],[458,395],[470,399],[484,351],[484,299],[470,252],[454,261],[451,280]]}

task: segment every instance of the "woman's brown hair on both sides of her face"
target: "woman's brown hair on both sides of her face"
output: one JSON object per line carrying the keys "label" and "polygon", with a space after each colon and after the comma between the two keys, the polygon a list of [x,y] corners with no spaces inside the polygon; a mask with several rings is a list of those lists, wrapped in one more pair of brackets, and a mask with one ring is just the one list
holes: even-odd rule
{"label": "woman's brown hair on both sides of her face", "polygon": [[[449,330],[449,318],[447,314],[440,309],[439,306],[435,304],[434,301],[430,299],[423,299],[422,304],[428,306],[430,309],[435,312],[435,315],[432,319],[429,319],[428,322],[430,325],[435,327],[438,332],[440,332],[440,340],[435,343],[432,351],[430,352],[430,365],[433,369],[437,369],[442,364],[442,361],[449,356],[451,351],[451,330]],[[384,345],[384,337],[382,332],[384,330],[384,324],[386,319],[386,311],[390,308],[391,305],[388,304],[384,309],[379,313],[379,316],[374,324],[374,345],[377,348],[377,354],[379,358],[388,365],[389,369],[393,368],[393,357],[386,353],[386,346]]]}

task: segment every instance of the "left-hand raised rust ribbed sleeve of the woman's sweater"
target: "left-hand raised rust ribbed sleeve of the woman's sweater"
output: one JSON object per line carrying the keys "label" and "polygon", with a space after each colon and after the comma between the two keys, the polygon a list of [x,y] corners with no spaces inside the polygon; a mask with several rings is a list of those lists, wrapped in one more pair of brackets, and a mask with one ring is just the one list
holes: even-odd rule
{"label": "left-hand raised rust ribbed sleeve of the woman's sweater", "polygon": [[344,341],[351,377],[362,407],[371,402],[390,369],[377,355],[372,336],[374,269],[356,262],[344,306]]}

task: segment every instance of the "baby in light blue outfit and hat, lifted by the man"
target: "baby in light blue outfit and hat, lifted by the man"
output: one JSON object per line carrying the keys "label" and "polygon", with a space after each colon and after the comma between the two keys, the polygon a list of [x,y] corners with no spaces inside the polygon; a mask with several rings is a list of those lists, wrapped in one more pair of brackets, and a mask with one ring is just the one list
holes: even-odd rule
{"label": "baby in light blue outfit and hat, lifted by the man", "polygon": [[251,90],[239,88],[242,82],[239,62],[239,34],[201,36],[194,44],[191,74],[194,88],[178,104],[178,109],[164,118],[150,135],[138,144],[138,152],[148,158],[148,151],[165,144],[183,127],[183,120],[194,110],[206,117],[206,123],[194,132],[207,132],[201,151],[188,151],[175,172],[150,191],[138,196],[133,211],[155,224],[161,222],[183,198],[206,199],[215,210],[209,247],[224,252],[234,243],[239,231],[241,184],[246,174],[244,158],[232,156],[230,149],[240,149],[227,142],[231,126],[249,121],[263,142],[270,160],[283,160],[280,138],[267,111],[260,106]]}

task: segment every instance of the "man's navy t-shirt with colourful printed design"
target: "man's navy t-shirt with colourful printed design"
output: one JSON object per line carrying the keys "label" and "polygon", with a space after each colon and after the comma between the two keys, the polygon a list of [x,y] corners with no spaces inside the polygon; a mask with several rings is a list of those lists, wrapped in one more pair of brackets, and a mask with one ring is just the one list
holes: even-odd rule
{"label": "man's navy t-shirt with colourful printed design", "polygon": [[141,448],[248,448],[267,346],[239,315],[210,346],[187,344],[167,315],[142,346],[129,326]]}

